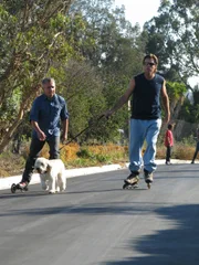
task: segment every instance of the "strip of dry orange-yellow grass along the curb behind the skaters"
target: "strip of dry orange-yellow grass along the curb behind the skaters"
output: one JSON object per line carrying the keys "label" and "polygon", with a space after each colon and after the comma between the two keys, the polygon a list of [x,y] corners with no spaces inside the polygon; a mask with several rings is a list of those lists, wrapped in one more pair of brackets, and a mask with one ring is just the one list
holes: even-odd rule
{"label": "strip of dry orange-yellow grass along the curb behind the skaters", "polygon": [[[13,153],[2,153],[0,156],[0,178],[20,174],[23,171],[25,159],[28,157],[29,146],[24,148],[22,156]],[[176,144],[172,151],[172,159],[191,160],[195,152],[195,146]],[[42,157],[49,157],[49,148],[44,146]],[[166,148],[164,145],[157,147],[157,159],[165,159]],[[109,163],[124,165],[128,161],[128,147],[116,146],[113,144],[104,146],[83,146],[71,144],[64,146],[61,150],[61,159],[66,168],[80,168],[102,166]]]}

